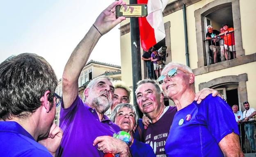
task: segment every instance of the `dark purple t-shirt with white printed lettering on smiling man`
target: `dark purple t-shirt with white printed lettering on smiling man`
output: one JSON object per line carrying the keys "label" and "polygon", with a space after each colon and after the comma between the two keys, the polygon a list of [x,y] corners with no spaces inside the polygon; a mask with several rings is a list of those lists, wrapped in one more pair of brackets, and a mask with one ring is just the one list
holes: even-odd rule
{"label": "dark purple t-shirt with white printed lettering on smiling man", "polygon": [[169,107],[162,117],[154,124],[149,124],[149,127],[144,130],[144,142],[149,144],[155,155],[165,157],[165,141],[169,135],[172,120],[177,111],[174,106]]}

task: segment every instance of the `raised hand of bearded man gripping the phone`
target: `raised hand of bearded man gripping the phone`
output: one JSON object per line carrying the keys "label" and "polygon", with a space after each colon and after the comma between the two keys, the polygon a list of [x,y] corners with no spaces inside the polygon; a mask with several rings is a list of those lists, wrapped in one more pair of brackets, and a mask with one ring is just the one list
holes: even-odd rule
{"label": "raised hand of bearded man gripping the phone", "polygon": [[121,21],[126,19],[123,16],[116,18],[115,7],[121,4],[125,5],[126,2],[123,2],[123,0],[118,0],[113,2],[98,16],[98,18],[94,22],[94,26],[98,29],[98,31],[101,34],[107,33],[112,28],[114,28],[117,24],[119,24]]}

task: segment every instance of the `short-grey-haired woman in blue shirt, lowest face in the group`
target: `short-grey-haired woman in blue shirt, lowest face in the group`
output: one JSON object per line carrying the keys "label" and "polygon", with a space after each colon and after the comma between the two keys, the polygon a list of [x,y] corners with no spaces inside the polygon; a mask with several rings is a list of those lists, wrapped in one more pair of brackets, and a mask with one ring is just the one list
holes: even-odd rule
{"label": "short-grey-haired woman in blue shirt, lowest face in the group", "polygon": [[122,131],[131,135],[132,142],[130,144],[130,152],[133,157],[156,157],[151,146],[133,138],[133,131],[135,130],[138,122],[136,109],[133,105],[118,104],[114,107],[110,120],[117,124]]}

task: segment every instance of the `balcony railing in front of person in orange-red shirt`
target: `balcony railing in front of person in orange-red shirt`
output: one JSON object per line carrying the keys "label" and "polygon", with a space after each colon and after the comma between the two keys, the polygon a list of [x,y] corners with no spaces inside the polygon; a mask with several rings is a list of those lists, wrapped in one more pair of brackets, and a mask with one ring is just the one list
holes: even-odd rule
{"label": "balcony railing in front of person in orange-red shirt", "polygon": [[[228,38],[230,34],[231,42],[227,40],[224,44],[224,38]],[[226,35],[219,35],[216,38],[203,40],[206,45],[206,61],[207,65],[214,64],[217,62],[223,62],[225,60],[234,59],[235,55],[235,42],[234,42],[234,31],[229,31]],[[216,62],[214,62],[214,59]]]}

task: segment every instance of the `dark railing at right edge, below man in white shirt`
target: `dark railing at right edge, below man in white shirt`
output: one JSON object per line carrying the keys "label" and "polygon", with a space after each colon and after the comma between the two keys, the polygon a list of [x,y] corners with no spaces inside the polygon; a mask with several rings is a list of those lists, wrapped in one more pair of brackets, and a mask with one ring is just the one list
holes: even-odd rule
{"label": "dark railing at right edge, below man in white shirt", "polygon": [[240,146],[244,153],[255,154],[256,126],[255,120],[238,123]]}

